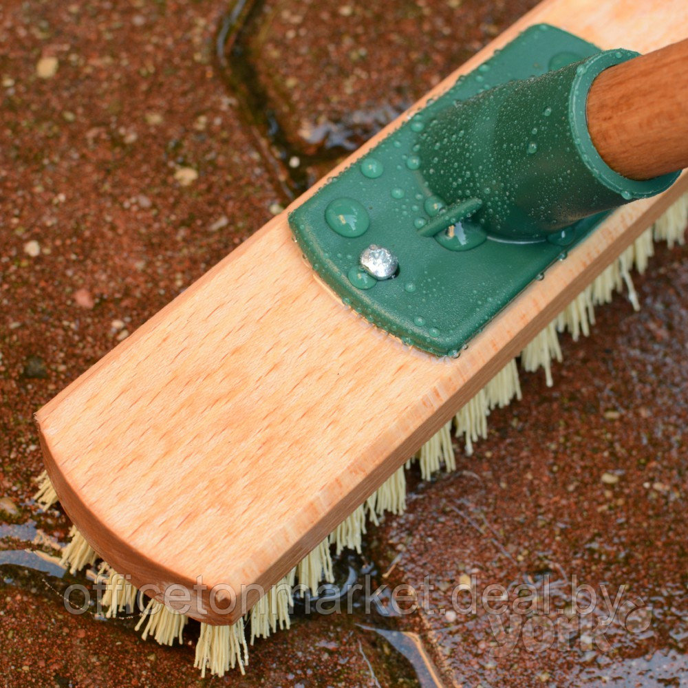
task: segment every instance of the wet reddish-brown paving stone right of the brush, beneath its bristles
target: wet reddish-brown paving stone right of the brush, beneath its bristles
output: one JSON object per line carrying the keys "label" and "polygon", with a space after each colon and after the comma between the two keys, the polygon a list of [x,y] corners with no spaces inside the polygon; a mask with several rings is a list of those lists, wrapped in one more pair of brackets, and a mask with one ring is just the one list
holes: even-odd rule
{"label": "wet reddish-brown paving stone right of the brush, beneath its bristles", "polygon": [[407,622],[447,685],[688,681],[685,250],[636,284],[641,312],[619,299],[563,338],[555,386],[522,376],[475,455],[378,533],[391,587],[429,577]]}

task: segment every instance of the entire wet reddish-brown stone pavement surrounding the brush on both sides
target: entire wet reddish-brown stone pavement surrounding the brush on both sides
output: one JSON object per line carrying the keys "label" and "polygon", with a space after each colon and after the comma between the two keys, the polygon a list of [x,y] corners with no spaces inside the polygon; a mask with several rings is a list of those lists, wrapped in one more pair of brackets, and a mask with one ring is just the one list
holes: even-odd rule
{"label": "entire wet reddish-brown stone pavement surrounding the brush on both sides", "polygon": [[[228,61],[243,61],[233,65],[243,87],[218,62],[231,3],[2,4],[3,685],[210,682],[189,645],[159,647],[131,620],[67,613],[71,579],[26,558],[54,556],[69,530],[60,510],[31,502],[41,470],[32,413],[533,4],[246,3]],[[380,630],[416,632],[407,645],[427,649],[449,685],[681,685],[684,256],[654,259],[643,312],[617,302],[590,339],[566,343],[555,388],[526,376],[524,402],[493,413],[491,438],[458,473],[418,484],[405,516],[369,532],[364,555],[378,564],[375,585],[433,577],[431,601],[445,610],[466,581],[505,585],[510,601],[518,583],[545,581],[566,601],[571,574],[612,593],[623,583],[638,604],[610,628],[611,649],[577,637],[492,658],[486,613],[301,614],[252,648],[246,677],[213,685],[418,685],[409,661],[424,660],[404,658],[400,636]]]}

